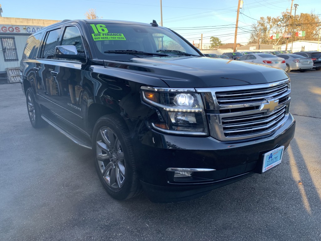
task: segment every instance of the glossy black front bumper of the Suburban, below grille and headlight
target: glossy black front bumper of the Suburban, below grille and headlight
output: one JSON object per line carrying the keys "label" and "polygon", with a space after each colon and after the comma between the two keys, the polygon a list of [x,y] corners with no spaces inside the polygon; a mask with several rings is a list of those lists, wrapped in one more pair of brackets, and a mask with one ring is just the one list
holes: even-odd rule
{"label": "glossy black front bumper of the Suburban, below grille and headlight", "polygon": [[[182,137],[160,134],[144,121],[133,139],[138,172],[148,197],[155,202],[186,201],[212,189],[260,173],[262,155],[274,148],[289,146],[295,120],[290,114],[273,134],[242,141],[218,141],[212,137]],[[192,178],[174,178],[167,168],[208,168]]]}

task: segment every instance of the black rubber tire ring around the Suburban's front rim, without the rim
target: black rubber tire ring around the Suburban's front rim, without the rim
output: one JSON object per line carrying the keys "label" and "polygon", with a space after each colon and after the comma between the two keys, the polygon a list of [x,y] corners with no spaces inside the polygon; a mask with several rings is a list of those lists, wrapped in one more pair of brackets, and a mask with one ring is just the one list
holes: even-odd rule
{"label": "black rubber tire ring around the Suburban's front rim, without the rim", "polygon": [[[118,126],[115,124],[115,121],[117,121]],[[121,123],[121,126],[119,126],[120,123]],[[98,166],[97,155],[96,155],[96,138],[97,138],[98,131],[102,127],[109,127],[115,132],[124,152],[125,183],[119,190],[115,190],[110,186],[108,186]],[[116,115],[111,114],[111,115],[100,117],[96,122],[92,133],[92,151],[94,155],[95,168],[99,176],[100,182],[103,185],[103,187],[106,189],[106,191],[113,198],[118,200],[124,200],[124,199],[130,198],[132,186],[137,184],[136,183],[137,180],[133,180],[133,172],[135,171],[135,168],[136,168],[135,160],[134,160],[135,159],[134,150],[133,150],[133,145],[131,144],[131,141],[129,139],[130,138],[129,131],[126,129],[127,127],[125,126],[125,123],[123,123],[123,121],[121,121],[120,118],[116,117]]]}

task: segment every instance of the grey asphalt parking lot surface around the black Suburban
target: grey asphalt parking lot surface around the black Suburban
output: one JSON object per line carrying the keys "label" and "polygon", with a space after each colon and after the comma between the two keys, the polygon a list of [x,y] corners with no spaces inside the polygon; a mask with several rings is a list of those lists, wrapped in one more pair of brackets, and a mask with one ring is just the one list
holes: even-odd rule
{"label": "grey asphalt parking lot surface around the black Suburban", "polygon": [[295,138],[265,174],[193,201],[116,201],[91,151],[32,128],[20,84],[0,85],[0,240],[321,240],[321,71],[290,72]]}

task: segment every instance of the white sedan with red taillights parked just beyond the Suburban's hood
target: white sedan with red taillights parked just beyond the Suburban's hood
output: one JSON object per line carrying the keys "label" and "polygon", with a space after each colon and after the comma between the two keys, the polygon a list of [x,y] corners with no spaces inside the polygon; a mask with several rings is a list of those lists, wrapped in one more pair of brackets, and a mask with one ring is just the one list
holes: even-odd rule
{"label": "white sedan with red taillights parked just beyond the Suburban's hood", "polygon": [[246,54],[239,58],[238,61],[262,64],[283,70],[286,69],[284,58],[277,57],[273,54]]}

